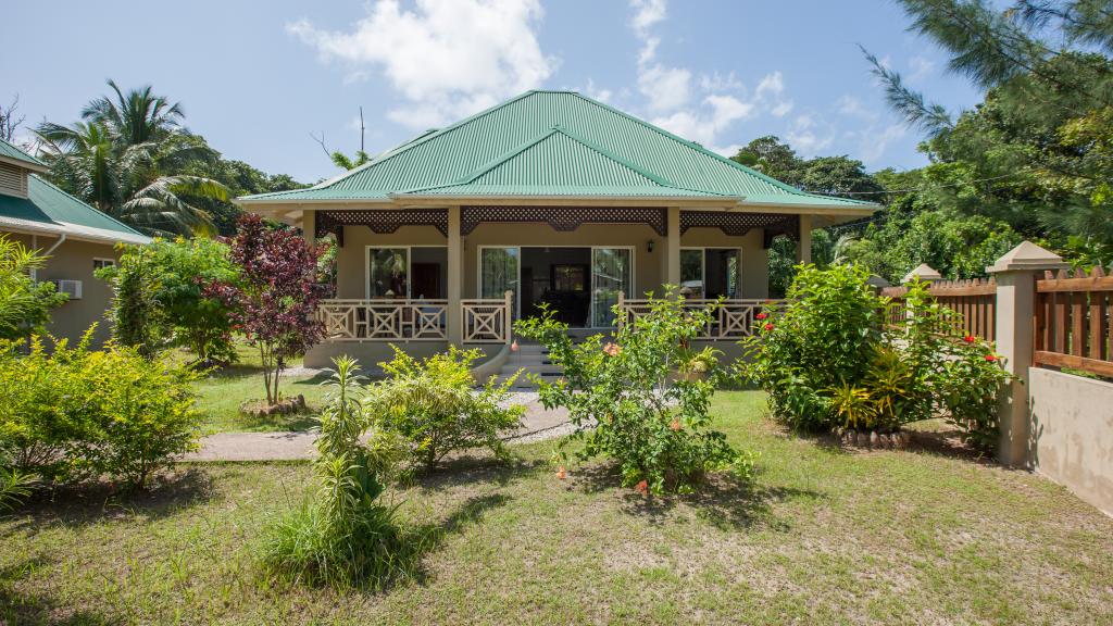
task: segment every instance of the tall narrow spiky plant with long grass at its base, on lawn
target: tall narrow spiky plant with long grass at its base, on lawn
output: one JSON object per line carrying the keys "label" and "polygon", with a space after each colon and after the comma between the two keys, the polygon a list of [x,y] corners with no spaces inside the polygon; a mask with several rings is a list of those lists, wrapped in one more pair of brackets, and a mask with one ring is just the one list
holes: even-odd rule
{"label": "tall narrow spiky plant with long grass at its base, on lawn", "polygon": [[319,418],[315,498],[272,522],[260,560],[267,571],[309,585],[377,584],[404,571],[396,507],[381,501],[400,447],[364,410],[355,361],[334,363]]}

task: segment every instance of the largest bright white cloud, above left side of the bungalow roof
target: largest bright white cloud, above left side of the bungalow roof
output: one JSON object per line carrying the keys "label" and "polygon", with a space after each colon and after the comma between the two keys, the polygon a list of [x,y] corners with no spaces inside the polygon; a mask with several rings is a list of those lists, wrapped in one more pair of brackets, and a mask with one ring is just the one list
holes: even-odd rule
{"label": "largest bright white cloud, above left side of the bungalow roof", "polygon": [[286,30],[317,49],[325,61],[346,62],[348,79],[380,69],[406,107],[387,115],[414,128],[440,126],[539,87],[558,61],[536,37],[539,0],[376,0],[346,32],[307,20]]}

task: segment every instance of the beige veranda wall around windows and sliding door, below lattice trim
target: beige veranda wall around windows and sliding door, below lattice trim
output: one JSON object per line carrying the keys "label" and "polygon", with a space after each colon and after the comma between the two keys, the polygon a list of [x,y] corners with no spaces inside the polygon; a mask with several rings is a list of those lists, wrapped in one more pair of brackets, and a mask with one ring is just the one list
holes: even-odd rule
{"label": "beige veranda wall around windows and sliding door, below lattice trim", "polygon": [[[725,235],[718,228],[691,228],[680,245],[740,247],[742,250],[742,297],[767,297],[769,256],[761,247],[761,231],[754,229],[741,237]],[[648,243],[653,242],[653,252]],[[337,297],[366,296],[366,247],[374,245],[446,245],[447,239],[432,226],[402,226],[385,235],[365,226],[344,228],[344,246],[337,263]],[[463,237],[463,297],[477,297],[480,246],[632,246],[634,250],[634,288],[640,296],[657,290],[664,264],[664,238],[641,224],[584,224],[573,232],[554,231],[546,224],[481,224]]]}

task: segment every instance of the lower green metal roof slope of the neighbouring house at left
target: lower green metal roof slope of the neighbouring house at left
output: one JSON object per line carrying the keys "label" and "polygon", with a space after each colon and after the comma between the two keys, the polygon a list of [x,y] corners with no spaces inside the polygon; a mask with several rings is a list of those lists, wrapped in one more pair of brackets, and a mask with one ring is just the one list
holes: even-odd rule
{"label": "lower green metal roof slope of the neighbouring house at left", "polygon": [[104,241],[145,243],[149,237],[31,174],[26,198],[0,194],[0,229],[27,226]]}

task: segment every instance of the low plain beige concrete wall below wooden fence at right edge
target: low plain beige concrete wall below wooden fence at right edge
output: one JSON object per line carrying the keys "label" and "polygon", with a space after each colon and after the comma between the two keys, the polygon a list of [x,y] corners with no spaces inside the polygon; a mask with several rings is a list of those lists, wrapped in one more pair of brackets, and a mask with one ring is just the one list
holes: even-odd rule
{"label": "low plain beige concrete wall below wooden fence at right edge", "polygon": [[1113,515],[1113,383],[1028,369],[1036,471]]}

